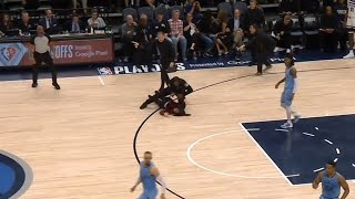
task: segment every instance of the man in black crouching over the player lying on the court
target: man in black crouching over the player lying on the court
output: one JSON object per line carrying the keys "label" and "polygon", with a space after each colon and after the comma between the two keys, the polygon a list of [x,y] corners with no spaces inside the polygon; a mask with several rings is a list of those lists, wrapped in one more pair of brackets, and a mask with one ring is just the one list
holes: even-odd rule
{"label": "man in black crouching over the player lying on the court", "polygon": [[162,91],[155,91],[154,95],[149,95],[149,98],[141,105],[141,109],[144,109],[149,104],[154,103],[160,108],[164,108],[165,103],[169,102],[171,95],[181,95],[183,100],[185,96],[193,92],[191,85],[183,78],[174,76],[169,81],[169,86]]}

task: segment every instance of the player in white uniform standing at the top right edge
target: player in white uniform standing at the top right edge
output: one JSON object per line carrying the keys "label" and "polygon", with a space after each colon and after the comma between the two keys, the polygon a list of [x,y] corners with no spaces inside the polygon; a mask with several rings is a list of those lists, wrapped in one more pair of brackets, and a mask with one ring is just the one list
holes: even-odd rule
{"label": "player in white uniform standing at the top right edge", "polygon": [[349,52],[344,59],[354,57],[354,32],[355,32],[355,0],[347,0],[347,20],[346,28],[348,30],[348,45]]}

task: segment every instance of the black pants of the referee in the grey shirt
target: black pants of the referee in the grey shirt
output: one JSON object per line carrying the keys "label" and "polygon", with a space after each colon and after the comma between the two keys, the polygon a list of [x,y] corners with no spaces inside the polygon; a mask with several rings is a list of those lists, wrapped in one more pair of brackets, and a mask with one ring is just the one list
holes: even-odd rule
{"label": "black pants of the referee in the grey shirt", "polygon": [[42,62],[44,62],[47,64],[47,66],[51,70],[52,83],[57,84],[57,70],[55,70],[55,67],[53,65],[53,59],[51,57],[50,53],[49,52],[45,52],[45,53],[34,52],[33,53],[33,57],[34,57],[34,61],[36,61],[36,64],[32,67],[32,81],[33,81],[33,83],[37,83],[39,67],[42,64]]}

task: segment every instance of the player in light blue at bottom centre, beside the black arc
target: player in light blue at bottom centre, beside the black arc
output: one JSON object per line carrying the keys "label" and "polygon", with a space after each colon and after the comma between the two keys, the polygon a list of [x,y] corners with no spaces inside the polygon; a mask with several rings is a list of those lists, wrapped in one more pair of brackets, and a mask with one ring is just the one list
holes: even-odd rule
{"label": "player in light blue at bottom centre, beside the black arc", "polygon": [[135,185],[131,188],[133,192],[141,182],[143,184],[143,193],[139,199],[156,199],[158,188],[155,181],[158,180],[162,186],[161,199],[165,199],[166,184],[162,176],[159,174],[156,166],[152,163],[152,153],[144,153],[144,160],[140,163],[140,176]]}

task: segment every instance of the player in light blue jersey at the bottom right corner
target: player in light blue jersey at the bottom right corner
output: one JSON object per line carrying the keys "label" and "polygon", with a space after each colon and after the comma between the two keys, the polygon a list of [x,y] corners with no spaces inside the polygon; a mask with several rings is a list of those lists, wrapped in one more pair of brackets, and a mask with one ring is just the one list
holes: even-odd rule
{"label": "player in light blue jersey at the bottom right corner", "polygon": [[339,199],[345,199],[349,193],[348,185],[345,178],[336,171],[336,163],[328,161],[325,171],[318,174],[312,184],[313,189],[317,189],[322,182],[322,195],[320,199],[338,199],[341,196],[341,187],[344,189]]}

